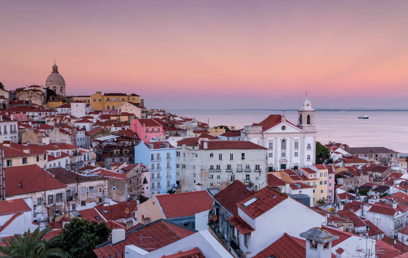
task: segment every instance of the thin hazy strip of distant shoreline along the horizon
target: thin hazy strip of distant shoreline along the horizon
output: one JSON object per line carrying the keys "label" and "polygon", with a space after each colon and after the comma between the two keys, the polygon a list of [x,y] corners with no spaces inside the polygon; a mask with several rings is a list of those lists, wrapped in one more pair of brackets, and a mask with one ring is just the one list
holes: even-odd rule
{"label": "thin hazy strip of distant shoreline along the horizon", "polygon": [[[297,108],[237,108],[237,109],[222,109],[222,108],[169,108],[169,110],[226,110],[226,111],[297,111]],[[397,108],[315,108],[315,111],[359,111],[359,112],[370,112],[370,111],[408,111],[408,109],[397,109]]]}

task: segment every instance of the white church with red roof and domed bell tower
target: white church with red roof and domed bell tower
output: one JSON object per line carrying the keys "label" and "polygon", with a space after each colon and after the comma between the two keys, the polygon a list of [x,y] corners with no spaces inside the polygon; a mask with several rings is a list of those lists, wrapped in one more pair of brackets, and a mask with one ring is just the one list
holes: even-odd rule
{"label": "white church with red roof and domed bell tower", "polygon": [[316,156],[315,110],[310,100],[302,102],[297,125],[284,115],[269,115],[260,123],[245,126],[241,132],[244,141],[268,148],[266,171],[297,169],[312,165]]}

